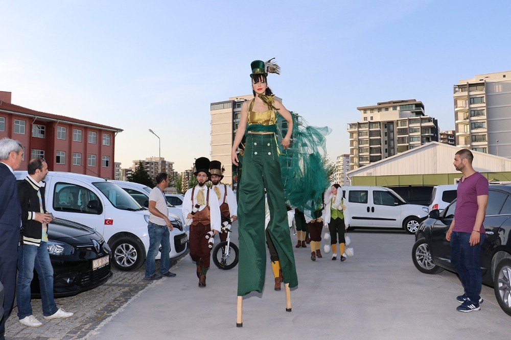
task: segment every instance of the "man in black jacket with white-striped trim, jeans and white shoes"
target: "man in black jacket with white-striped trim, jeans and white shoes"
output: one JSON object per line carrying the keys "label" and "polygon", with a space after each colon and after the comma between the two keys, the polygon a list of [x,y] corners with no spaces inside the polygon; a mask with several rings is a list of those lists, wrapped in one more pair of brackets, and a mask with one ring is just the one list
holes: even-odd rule
{"label": "man in black jacket with white-striped trim, jeans and white shoes", "polygon": [[30,304],[30,283],[34,278],[34,268],[39,276],[44,319],[69,318],[73,313],[58,308],[53,298],[53,267],[47,243],[48,223],[53,217],[45,212],[43,182],[48,174],[48,164],[43,158],[32,159],[28,173],[29,176],[18,184],[23,239],[18,248],[16,302],[19,322],[25,326],[39,327],[42,323],[32,315]]}

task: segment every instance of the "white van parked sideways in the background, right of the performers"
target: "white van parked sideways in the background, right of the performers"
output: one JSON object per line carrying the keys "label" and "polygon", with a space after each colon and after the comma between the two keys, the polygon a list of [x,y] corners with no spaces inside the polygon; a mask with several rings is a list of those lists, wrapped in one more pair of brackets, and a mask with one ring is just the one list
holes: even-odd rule
{"label": "white van parked sideways in the background, right of the performers", "polygon": [[342,186],[346,223],[351,228],[403,228],[414,234],[428,213],[382,186]]}

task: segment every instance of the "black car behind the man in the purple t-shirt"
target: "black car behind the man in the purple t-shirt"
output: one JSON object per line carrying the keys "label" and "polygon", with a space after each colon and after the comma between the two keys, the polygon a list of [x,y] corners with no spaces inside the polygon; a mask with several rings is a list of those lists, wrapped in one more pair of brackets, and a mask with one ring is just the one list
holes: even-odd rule
{"label": "black car behind the man in the purple t-shirt", "polygon": [[[451,247],[446,233],[454,218],[456,200],[440,214],[432,210],[415,234],[413,264],[426,274],[444,269],[456,272],[451,264]],[[495,297],[511,315],[511,186],[490,185],[486,216],[486,232],[481,249],[482,282],[494,287]]]}

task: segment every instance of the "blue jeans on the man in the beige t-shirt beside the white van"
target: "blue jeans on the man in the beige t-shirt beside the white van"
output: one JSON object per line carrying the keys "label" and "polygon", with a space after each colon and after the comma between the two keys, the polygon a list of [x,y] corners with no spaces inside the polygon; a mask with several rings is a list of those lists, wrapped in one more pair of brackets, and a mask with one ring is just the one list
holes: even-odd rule
{"label": "blue jeans on the man in the beige t-shirt beside the white van", "polygon": [[146,277],[154,274],[156,268],[156,255],[161,244],[160,274],[167,273],[170,269],[170,231],[167,226],[159,226],[152,222],[147,225],[149,232],[149,250],[146,258]]}

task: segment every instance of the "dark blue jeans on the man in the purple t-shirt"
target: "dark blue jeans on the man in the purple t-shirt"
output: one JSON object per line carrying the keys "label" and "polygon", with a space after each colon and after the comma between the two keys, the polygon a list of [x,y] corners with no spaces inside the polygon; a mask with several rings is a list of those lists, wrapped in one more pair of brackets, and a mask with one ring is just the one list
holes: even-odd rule
{"label": "dark blue jeans on the man in the purple t-shirt", "polygon": [[479,244],[470,246],[470,233],[455,231],[451,235],[451,263],[459,275],[464,293],[472,302],[479,302],[481,294],[481,245],[484,234],[481,234]]}

